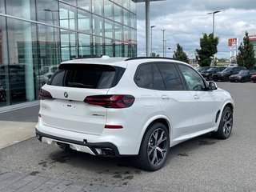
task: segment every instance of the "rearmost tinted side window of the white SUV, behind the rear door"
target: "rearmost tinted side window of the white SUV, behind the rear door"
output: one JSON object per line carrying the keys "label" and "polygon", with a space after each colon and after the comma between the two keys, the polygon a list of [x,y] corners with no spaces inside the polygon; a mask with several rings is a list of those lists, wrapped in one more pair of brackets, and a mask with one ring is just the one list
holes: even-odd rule
{"label": "rearmost tinted side window of the white SUV, behind the rear door", "polygon": [[144,64],[138,66],[134,81],[139,87],[153,89],[152,65]]}

